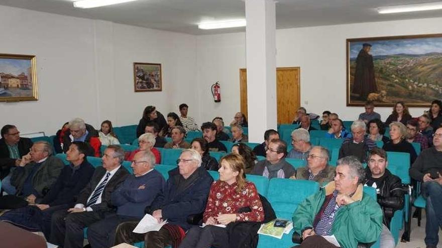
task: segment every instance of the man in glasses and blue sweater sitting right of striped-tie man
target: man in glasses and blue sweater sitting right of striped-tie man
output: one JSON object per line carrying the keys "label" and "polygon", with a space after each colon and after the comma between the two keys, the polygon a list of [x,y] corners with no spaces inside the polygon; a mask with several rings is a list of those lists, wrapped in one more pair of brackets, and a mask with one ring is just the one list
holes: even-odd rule
{"label": "man in glasses and blue sweater sitting right of striped-tie man", "polygon": [[144,209],[150,206],[165,184],[160,172],[154,170],[155,156],[150,151],[137,152],[131,167],[134,174],[128,176],[123,184],[111,195],[117,214],[99,220],[87,229],[87,239],[93,248],[112,247],[115,229],[126,221],[140,221]]}

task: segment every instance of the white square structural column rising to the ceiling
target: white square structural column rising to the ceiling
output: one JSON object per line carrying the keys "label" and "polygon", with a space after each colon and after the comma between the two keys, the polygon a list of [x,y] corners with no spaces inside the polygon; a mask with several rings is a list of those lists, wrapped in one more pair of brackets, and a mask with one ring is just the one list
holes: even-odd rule
{"label": "white square structural column rising to the ceiling", "polygon": [[276,13],[273,0],[246,0],[249,141],[276,130]]}

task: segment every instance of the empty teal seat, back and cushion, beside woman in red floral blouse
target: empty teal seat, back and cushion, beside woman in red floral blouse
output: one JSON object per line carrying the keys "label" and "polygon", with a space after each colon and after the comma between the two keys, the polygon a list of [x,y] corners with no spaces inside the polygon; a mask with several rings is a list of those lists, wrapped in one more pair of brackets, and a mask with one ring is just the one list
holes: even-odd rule
{"label": "empty teal seat, back and cushion, beside woman in red floral blouse", "polygon": [[[319,190],[319,184],[307,180],[272,178],[269,182],[267,200],[272,204],[278,218],[291,220],[299,203]],[[293,230],[281,239],[259,235],[258,247],[291,247]]]}

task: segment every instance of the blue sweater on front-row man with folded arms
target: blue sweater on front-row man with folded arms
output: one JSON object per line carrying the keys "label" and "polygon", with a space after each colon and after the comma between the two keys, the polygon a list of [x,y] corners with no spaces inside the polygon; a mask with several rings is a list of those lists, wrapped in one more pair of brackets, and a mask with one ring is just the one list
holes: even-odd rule
{"label": "blue sweater on front-row man with folded arms", "polygon": [[111,195],[112,204],[117,206],[117,214],[130,217],[143,217],[144,208],[163,189],[165,180],[157,170],[136,177],[130,175]]}

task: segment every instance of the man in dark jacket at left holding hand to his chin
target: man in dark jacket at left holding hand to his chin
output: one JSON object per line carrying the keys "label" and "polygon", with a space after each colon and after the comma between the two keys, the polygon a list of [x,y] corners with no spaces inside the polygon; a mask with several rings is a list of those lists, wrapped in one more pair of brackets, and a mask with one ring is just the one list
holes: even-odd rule
{"label": "man in dark jacket at left holding hand to his chin", "polygon": [[10,195],[0,197],[3,209],[13,209],[36,203],[49,191],[64,167],[61,159],[52,156],[52,145],[46,141],[35,142],[24,155],[11,175],[11,185],[4,189]]}

